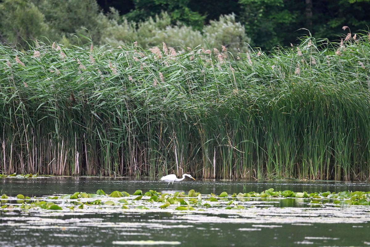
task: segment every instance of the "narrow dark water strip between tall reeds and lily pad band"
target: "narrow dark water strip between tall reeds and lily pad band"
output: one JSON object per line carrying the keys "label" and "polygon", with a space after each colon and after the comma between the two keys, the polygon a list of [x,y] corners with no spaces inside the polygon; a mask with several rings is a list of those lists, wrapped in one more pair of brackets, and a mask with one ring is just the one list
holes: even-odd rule
{"label": "narrow dark water strip between tall reeds and lily pad band", "polygon": [[0,192],[8,196],[24,194],[28,196],[44,196],[51,194],[68,194],[76,191],[96,193],[97,190],[104,190],[105,193],[112,191],[126,191],[129,194],[135,190],[157,190],[157,191],[185,191],[191,189],[202,194],[220,194],[226,191],[232,193],[245,193],[250,191],[261,192],[274,188],[278,190],[307,191],[313,192],[339,192],[345,190],[370,191],[370,184],[367,183],[342,183],[334,181],[234,181],[234,180],[205,180],[194,181],[190,178],[172,184],[155,180],[134,180],[131,178],[101,178],[101,177],[48,177],[37,179],[1,178]]}

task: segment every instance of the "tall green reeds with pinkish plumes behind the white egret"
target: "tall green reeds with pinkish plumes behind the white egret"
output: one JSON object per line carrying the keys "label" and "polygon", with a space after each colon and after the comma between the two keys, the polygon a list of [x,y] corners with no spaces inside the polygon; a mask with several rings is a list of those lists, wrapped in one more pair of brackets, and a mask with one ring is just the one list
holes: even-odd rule
{"label": "tall green reeds with pinkish plumes behind the white egret", "polygon": [[0,173],[369,181],[369,39],[0,45]]}

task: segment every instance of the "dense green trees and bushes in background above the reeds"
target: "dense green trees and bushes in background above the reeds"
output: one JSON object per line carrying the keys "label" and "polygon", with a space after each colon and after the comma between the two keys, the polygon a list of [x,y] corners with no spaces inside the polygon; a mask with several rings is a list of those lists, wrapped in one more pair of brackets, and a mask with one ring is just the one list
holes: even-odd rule
{"label": "dense green trees and bushes in background above the reeds", "polygon": [[[302,35],[337,40],[348,32],[369,32],[368,9],[370,0],[0,0],[0,42],[25,47],[37,39],[70,45],[88,42],[87,37],[95,44],[138,40],[151,47],[166,42],[171,30],[180,35],[177,45],[194,47],[200,43],[193,37],[206,40],[213,21],[233,15],[243,36],[250,38],[236,38],[236,46],[248,41],[270,50],[295,44]],[[153,21],[156,28],[143,33]],[[349,29],[343,31],[343,26]],[[239,36],[236,29],[231,37]]]}

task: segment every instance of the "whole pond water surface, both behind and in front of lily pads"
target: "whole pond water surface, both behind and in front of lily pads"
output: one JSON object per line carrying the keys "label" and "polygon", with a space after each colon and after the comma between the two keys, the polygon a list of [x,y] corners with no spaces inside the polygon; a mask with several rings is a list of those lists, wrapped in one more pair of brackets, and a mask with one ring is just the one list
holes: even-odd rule
{"label": "whole pond water surface, both behind and in front of lily pads", "polygon": [[[162,193],[194,189],[202,194],[228,194],[275,190],[370,191],[370,184],[307,181],[193,181],[170,184],[128,178],[57,177],[1,178],[1,194],[14,197],[95,193],[102,189],[132,194],[157,190]],[[110,199],[107,199],[110,200]],[[231,198],[229,198],[231,200]],[[82,201],[82,199],[81,199]],[[148,210],[88,206],[84,210],[2,210],[1,246],[370,246],[370,206],[309,204],[309,199],[251,198],[238,202],[242,210],[220,207],[202,210]],[[16,204],[9,200],[8,204]],[[2,203],[4,204],[4,203]],[[144,242],[138,242],[144,241]],[[145,242],[146,241],[146,242]],[[171,241],[171,242],[166,242]],[[139,245],[138,245],[139,244]],[[178,245],[179,244],[179,245]]]}

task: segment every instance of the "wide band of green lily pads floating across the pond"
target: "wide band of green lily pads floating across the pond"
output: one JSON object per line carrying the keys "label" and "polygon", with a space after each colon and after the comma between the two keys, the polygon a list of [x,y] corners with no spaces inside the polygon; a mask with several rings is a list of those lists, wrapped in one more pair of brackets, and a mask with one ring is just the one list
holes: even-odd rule
{"label": "wide band of green lily pads floating across the pond", "polygon": [[[122,198],[121,198],[122,197]],[[255,198],[309,198],[310,203],[323,204],[323,199],[330,199],[333,204],[346,205],[363,205],[369,206],[370,192],[363,191],[341,191],[338,193],[326,191],[320,193],[293,192],[290,190],[274,191],[273,188],[262,191],[261,193],[233,193],[228,194],[222,192],[219,195],[213,193],[202,195],[195,190],[190,190],[188,194],[185,192],[161,193],[155,190],[149,190],[143,193],[142,190],[136,190],[132,195],[126,191],[113,191],[110,194],[105,194],[103,190],[97,190],[96,193],[75,192],[73,194],[64,194],[61,196],[47,196],[45,198],[30,198],[18,194],[16,198],[17,204],[8,204],[8,196],[1,196],[0,209],[31,209],[41,208],[47,210],[63,210],[75,208],[83,209],[88,206],[109,207],[115,206],[122,209],[136,208],[149,209],[149,207],[167,208],[171,205],[175,210],[195,210],[195,208],[223,207],[225,209],[244,209],[240,205],[243,201],[249,201],[252,197]],[[58,204],[55,204],[58,203]],[[240,203],[240,204],[239,204]]]}

